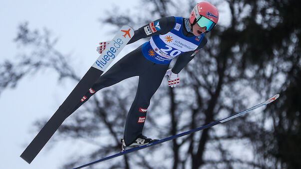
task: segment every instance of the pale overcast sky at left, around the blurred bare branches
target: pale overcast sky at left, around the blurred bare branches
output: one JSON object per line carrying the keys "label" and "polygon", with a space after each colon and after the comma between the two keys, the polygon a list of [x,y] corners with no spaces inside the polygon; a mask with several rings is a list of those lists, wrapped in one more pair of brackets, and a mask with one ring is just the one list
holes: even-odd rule
{"label": "pale overcast sky at left, around the blurred bare branches", "polygon": [[[120,0],[118,5],[128,7],[133,3],[133,0]],[[79,76],[83,76],[98,57],[98,42],[113,37],[112,34],[106,35],[108,27],[102,27],[98,21],[106,15],[104,10],[112,4],[117,2],[1,0],[0,62],[4,59],[13,60],[17,54],[22,53],[18,51],[13,39],[16,37],[17,26],[28,21],[30,29],[47,28],[52,32],[52,37],[58,37],[56,49],[63,54],[71,54],[74,58],[72,66],[75,66]],[[53,146],[47,144],[30,165],[19,157],[37,134],[33,122],[38,119],[48,120],[74,87],[71,82],[58,83],[56,79],[57,74],[52,71],[40,72],[23,78],[15,89],[1,93],[1,169],[57,169],[78,154],[76,151],[81,143],[74,145],[72,141],[67,141]]]}

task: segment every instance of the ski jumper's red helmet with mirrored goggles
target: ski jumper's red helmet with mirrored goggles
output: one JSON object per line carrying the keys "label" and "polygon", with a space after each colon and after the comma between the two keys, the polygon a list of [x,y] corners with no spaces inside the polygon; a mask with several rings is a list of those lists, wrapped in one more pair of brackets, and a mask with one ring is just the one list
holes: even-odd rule
{"label": "ski jumper's red helmet with mirrored goggles", "polygon": [[[211,20],[210,22],[212,23],[212,25],[206,20],[200,20],[200,18],[204,16],[205,18],[207,18],[206,20]],[[204,19],[204,18],[203,18]],[[200,20],[200,22],[199,22]],[[207,31],[210,31],[218,22],[219,20],[219,10],[211,3],[209,2],[200,2],[198,3],[196,6],[194,6],[190,17],[189,17],[189,21],[191,24],[195,24],[196,22],[198,22],[198,24],[202,23],[203,24],[207,24]],[[202,25],[200,25],[201,27],[203,27]],[[209,26],[209,27],[208,27]]]}

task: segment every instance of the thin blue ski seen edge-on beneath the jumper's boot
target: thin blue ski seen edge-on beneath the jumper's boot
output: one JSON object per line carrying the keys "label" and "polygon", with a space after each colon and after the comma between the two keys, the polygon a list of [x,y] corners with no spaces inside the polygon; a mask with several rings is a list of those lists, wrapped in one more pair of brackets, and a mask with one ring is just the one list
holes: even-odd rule
{"label": "thin blue ski seen edge-on beneath the jumper's boot", "polygon": [[92,163],[89,163],[89,164],[86,164],[86,165],[83,165],[83,166],[80,166],[80,167],[77,167],[77,168],[74,168],[74,169],[81,169],[81,168],[84,168],[84,167],[87,167],[87,166],[91,166],[91,165],[99,163],[99,162],[103,162],[103,161],[106,161],[106,160],[109,160],[109,159],[112,159],[112,158],[115,158],[115,157],[118,157],[118,156],[126,155],[126,154],[129,154],[129,153],[141,150],[141,149],[145,149],[145,148],[148,148],[148,147],[151,147],[151,146],[155,146],[155,145],[158,145],[158,144],[161,144],[161,143],[164,143],[164,142],[167,142],[167,141],[170,141],[170,140],[173,140],[173,139],[185,136],[185,135],[189,135],[189,134],[192,134],[194,132],[210,128],[210,127],[215,126],[217,124],[225,123],[225,122],[227,122],[229,120],[235,119],[235,118],[237,118],[237,117],[239,117],[241,115],[249,113],[249,112],[251,112],[251,111],[253,111],[253,110],[257,109],[257,108],[260,108],[262,106],[270,104],[273,101],[275,101],[276,99],[278,99],[279,96],[280,96],[279,94],[276,94],[273,97],[271,97],[270,99],[268,99],[267,101],[265,101],[263,103],[260,103],[260,104],[254,106],[254,107],[252,107],[250,109],[244,110],[244,111],[242,111],[240,113],[236,113],[236,114],[234,114],[232,116],[229,116],[229,117],[227,117],[225,119],[222,119],[222,120],[219,120],[219,121],[216,121],[216,122],[213,122],[213,123],[208,124],[206,126],[202,126],[200,128],[197,128],[197,129],[194,129],[194,130],[190,130],[188,132],[184,132],[184,133],[181,133],[181,134],[178,134],[178,135],[175,135],[175,136],[171,136],[171,137],[168,137],[168,138],[165,138],[165,139],[162,139],[162,140],[159,140],[157,142],[153,142],[153,143],[150,143],[150,144],[147,144],[147,145],[143,145],[143,146],[140,146],[140,147],[136,147],[136,148],[132,148],[132,149],[129,149],[129,150],[125,150],[124,152],[120,152],[118,154],[115,154],[115,155],[112,155],[112,156],[109,156],[109,157],[105,157],[103,159],[97,160],[95,162],[92,162]]}

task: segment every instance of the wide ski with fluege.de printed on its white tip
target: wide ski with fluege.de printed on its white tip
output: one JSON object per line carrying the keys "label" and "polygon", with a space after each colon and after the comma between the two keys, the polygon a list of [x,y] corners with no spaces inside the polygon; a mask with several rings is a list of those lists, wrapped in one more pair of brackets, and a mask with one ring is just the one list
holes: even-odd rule
{"label": "wide ski with fluege.de printed on its white tip", "polygon": [[21,154],[21,158],[28,164],[37,156],[41,149],[45,146],[48,140],[52,137],[58,127],[70,115],[70,112],[75,108],[76,104],[80,101],[82,96],[90,89],[100,75],[112,63],[113,59],[124,48],[129,40],[134,35],[134,29],[128,25],[122,26],[120,31],[112,39],[106,49],[97,58],[94,64],[90,67],[87,73],[75,86],[73,91],[69,94],[66,100],[57,109],[50,120],[35,136],[31,143],[27,146]]}

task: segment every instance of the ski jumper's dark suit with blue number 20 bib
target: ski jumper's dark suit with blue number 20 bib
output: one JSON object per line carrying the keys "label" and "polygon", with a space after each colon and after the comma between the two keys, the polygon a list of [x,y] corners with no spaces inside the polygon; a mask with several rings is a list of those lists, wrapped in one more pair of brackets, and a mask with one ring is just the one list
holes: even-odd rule
{"label": "ski jumper's dark suit with blue number 20 bib", "polygon": [[159,88],[171,60],[177,57],[172,72],[179,73],[207,43],[204,33],[194,36],[188,31],[190,28],[187,28],[187,21],[189,19],[182,17],[164,17],[135,30],[129,43],[145,37],[151,39],[125,55],[100,76],[70,114],[98,90],[126,78],[139,76],[136,97],[128,112],[124,129],[125,144],[133,143],[142,135],[150,99]]}

